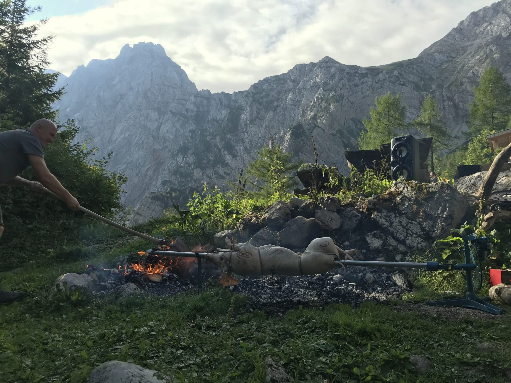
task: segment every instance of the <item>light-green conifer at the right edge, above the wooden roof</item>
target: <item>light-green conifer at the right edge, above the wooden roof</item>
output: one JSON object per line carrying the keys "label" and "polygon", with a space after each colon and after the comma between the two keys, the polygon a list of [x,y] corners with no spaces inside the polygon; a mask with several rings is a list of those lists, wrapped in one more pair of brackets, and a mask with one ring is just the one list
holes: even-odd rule
{"label": "light-green conifer at the right edge, above the wooden roof", "polygon": [[469,108],[471,137],[483,131],[493,133],[506,129],[511,115],[511,86],[500,70],[489,67],[484,71],[479,86],[474,87],[474,101]]}

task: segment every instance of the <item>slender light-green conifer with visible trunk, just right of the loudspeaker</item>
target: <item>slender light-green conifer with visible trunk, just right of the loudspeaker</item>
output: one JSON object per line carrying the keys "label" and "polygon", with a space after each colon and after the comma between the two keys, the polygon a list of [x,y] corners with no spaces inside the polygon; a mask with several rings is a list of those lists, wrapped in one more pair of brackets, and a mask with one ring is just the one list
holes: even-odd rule
{"label": "slender light-green conifer with visible trunk, just right of the loudspeaker", "polygon": [[430,152],[431,171],[435,169],[433,157],[438,158],[440,149],[448,149],[454,138],[441,117],[442,113],[437,110],[436,100],[428,94],[421,106],[421,114],[412,122],[421,133],[433,138]]}

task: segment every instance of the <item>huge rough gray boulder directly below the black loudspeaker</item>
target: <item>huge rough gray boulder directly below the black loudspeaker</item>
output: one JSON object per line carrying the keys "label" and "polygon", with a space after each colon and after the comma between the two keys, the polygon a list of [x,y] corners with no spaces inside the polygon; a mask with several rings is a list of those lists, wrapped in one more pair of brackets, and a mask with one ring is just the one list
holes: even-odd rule
{"label": "huge rough gray boulder directly below the black loudspeaker", "polygon": [[374,224],[372,249],[423,250],[459,226],[468,203],[444,182],[396,181],[390,189],[357,205]]}

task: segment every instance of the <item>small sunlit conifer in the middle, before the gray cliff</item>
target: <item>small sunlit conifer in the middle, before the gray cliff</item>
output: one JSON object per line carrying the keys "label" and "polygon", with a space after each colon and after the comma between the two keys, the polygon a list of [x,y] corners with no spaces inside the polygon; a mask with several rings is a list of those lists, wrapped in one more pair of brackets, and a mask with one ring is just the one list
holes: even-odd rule
{"label": "small sunlit conifer in the middle, before the gray cliff", "polygon": [[[252,185],[264,196],[283,196],[287,190],[298,185],[295,172],[301,161],[292,162],[294,153],[283,153],[280,145],[273,141],[273,137],[270,137],[269,146],[265,145],[258,151],[258,156],[252,162],[248,162],[248,169],[245,172],[255,180],[245,177],[245,183]],[[258,180],[263,181],[263,185],[259,185]]]}

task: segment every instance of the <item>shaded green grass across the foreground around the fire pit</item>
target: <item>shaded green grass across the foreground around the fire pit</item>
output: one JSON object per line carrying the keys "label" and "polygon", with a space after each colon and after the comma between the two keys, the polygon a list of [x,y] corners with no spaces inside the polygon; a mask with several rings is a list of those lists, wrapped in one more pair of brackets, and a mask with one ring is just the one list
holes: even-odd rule
{"label": "shaded green grass across the foreground around the fire pit", "polygon": [[[501,383],[511,369],[509,315],[453,321],[400,311],[399,304],[364,302],[297,307],[270,317],[213,280],[201,295],[52,297],[50,286],[59,275],[151,247],[127,238],[100,244],[86,259],[44,259],[0,274],[4,288],[29,293],[0,307],[0,381],[85,382],[97,365],[120,360],[175,382],[260,382],[267,356],[296,381]],[[422,280],[414,300],[434,290],[428,292],[433,281]],[[482,342],[495,347],[478,351]],[[412,367],[414,354],[429,358],[428,373]]]}

